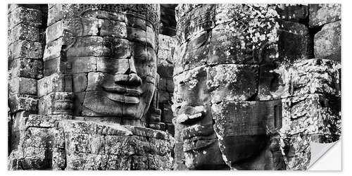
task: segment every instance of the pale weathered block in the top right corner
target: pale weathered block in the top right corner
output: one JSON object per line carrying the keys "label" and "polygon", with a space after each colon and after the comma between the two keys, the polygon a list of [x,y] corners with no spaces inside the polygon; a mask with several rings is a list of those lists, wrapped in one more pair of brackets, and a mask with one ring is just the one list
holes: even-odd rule
{"label": "pale weathered block in the top right corner", "polygon": [[316,27],[341,20],[341,4],[309,4],[309,26]]}

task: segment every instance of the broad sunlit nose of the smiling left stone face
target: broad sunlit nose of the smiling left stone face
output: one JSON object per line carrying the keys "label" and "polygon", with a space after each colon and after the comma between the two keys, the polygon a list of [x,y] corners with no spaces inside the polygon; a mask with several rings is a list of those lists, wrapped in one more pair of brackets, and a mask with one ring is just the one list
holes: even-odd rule
{"label": "broad sunlit nose of the smiling left stone face", "polygon": [[140,86],[142,85],[142,78],[137,75],[136,68],[134,67],[134,58],[129,59],[129,66],[125,74],[117,74],[114,76],[116,84]]}

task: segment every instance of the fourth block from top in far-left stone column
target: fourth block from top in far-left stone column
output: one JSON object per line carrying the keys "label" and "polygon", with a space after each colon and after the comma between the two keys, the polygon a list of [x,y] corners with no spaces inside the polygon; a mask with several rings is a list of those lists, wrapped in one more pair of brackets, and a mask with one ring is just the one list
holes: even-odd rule
{"label": "fourth block from top in far-left stone column", "polygon": [[27,77],[36,80],[43,77],[43,63],[36,59],[14,59],[10,61],[8,70],[8,77]]}

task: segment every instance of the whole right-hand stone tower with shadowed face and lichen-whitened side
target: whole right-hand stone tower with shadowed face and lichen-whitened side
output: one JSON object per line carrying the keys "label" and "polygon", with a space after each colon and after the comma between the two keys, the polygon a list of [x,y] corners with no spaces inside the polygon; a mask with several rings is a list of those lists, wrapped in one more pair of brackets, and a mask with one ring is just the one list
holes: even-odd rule
{"label": "whole right-hand stone tower with shadowed face and lichen-whitened side", "polygon": [[176,170],[305,170],[310,142],[339,139],[341,65],[314,58],[320,34],[310,28],[313,10],[177,6]]}

